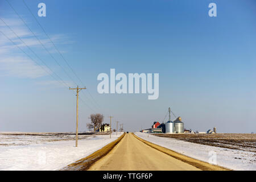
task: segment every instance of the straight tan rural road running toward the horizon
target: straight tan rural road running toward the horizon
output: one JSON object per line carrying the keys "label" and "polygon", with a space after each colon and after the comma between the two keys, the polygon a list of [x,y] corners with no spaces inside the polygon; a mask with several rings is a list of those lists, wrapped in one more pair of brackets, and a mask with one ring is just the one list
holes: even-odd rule
{"label": "straight tan rural road running toward the horizon", "polygon": [[144,144],[129,133],[108,155],[94,163],[89,170],[184,171],[200,169]]}

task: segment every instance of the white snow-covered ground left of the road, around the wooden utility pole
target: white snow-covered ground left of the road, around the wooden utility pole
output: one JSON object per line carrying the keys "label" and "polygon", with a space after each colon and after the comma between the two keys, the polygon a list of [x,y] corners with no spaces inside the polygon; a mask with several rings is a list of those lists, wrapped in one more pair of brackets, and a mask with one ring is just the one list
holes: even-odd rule
{"label": "white snow-covered ground left of the road, around the wooden utility pole", "polygon": [[[0,134],[0,170],[58,170],[84,158],[113,142],[123,133],[83,136],[75,147],[75,140],[68,136],[27,136]],[[80,136],[79,136],[80,137]],[[74,136],[73,136],[74,138]],[[6,144],[5,144],[6,143]]]}

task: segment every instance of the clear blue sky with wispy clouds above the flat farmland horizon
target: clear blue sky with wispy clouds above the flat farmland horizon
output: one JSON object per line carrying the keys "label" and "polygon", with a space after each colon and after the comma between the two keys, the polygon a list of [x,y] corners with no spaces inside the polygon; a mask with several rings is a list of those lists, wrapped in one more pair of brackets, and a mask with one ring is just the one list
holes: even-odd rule
{"label": "clear blue sky with wispy clouds above the flat farmland horizon", "polygon": [[[86,86],[80,97],[89,107],[80,102],[80,131],[96,112],[105,115],[104,122],[112,114],[125,130],[138,131],[162,122],[169,106],[187,129],[256,131],[255,1],[25,0],[85,85],[24,3],[9,2],[72,80]],[[46,3],[46,17],[38,16],[40,2]],[[217,5],[217,17],[208,16],[210,2]],[[6,1],[0,2],[0,17],[53,72],[76,86]],[[45,72],[1,20],[0,30],[41,65],[0,35],[0,131],[75,131],[75,93]],[[159,73],[158,100],[147,100],[147,94],[98,94],[97,76],[110,68],[126,75]]]}

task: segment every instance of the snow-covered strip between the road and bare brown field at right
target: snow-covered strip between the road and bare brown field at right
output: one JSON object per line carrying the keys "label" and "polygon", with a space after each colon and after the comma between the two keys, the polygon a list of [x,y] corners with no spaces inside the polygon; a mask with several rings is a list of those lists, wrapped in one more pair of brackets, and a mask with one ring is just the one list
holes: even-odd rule
{"label": "snow-covered strip between the road and bare brown field at right", "polygon": [[233,170],[256,170],[255,152],[207,146],[174,138],[156,137],[146,133],[136,132],[134,134],[148,142],[158,144],[159,146],[169,148],[170,150],[204,162],[214,162],[214,159],[216,159],[218,166]]}

